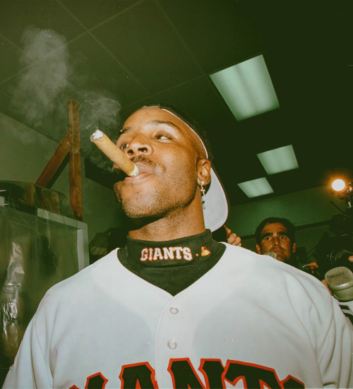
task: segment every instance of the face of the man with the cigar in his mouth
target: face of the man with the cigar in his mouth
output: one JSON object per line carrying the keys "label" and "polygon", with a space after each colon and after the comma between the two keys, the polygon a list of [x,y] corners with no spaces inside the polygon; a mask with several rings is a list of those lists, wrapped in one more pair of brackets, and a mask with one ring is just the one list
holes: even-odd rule
{"label": "face of the man with the cigar in his mouth", "polygon": [[183,121],[158,107],[140,109],[126,120],[116,145],[140,174],[116,182],[114,191],[128,217],[163,217],[193,201],[198,184],[193,137]]}

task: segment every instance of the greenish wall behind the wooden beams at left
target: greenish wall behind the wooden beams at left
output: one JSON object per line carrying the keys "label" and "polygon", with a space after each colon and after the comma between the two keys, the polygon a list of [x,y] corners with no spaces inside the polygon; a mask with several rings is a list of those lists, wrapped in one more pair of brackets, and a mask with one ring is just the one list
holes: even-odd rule
{"label": "greenish wall behind the wooden beams at left", "polygon": [[[35,183],[58,143],[0,114],[0,180]],[[88,239],[110,227],[120,227],[114,191],[85,178],[81,161],[83,222],[88,224]],[[52,189],[70,198],[68,163],[52,185]]]}

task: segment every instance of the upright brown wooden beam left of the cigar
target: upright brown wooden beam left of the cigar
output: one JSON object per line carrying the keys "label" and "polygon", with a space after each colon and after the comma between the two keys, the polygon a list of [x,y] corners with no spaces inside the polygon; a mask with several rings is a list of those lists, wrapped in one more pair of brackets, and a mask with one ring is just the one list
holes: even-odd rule
{"label": "upright brown wooden beam left of the cigar", "polygon": [[70,194],[74,215],[82,220],[82,185],[80,152],[80,107],[77,102],[68,102],[68,132],[71,136],[70,147]]}

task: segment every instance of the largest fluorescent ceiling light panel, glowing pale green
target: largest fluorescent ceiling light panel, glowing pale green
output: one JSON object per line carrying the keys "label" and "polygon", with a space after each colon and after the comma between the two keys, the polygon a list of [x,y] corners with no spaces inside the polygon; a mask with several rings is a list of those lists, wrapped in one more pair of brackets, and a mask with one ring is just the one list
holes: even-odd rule
{"label": "largest fluorescent ceiling light panel, glowing pale green", "polygon": [[280,107],[262,54],[210,78],[238,121]]}

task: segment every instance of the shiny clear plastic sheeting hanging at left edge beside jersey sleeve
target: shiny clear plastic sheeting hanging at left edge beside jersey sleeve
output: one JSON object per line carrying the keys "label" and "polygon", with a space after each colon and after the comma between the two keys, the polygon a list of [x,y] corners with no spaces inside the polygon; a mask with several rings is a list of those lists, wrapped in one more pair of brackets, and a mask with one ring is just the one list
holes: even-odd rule
{"label": "shiny clear plastic sheeting hanging at left edge beside jersey sleeve", "polygon": [[72,216],[65,196],[33,184],[0,181],[0,384],[44,293],[78,272],[77,228],[38,217]]}

